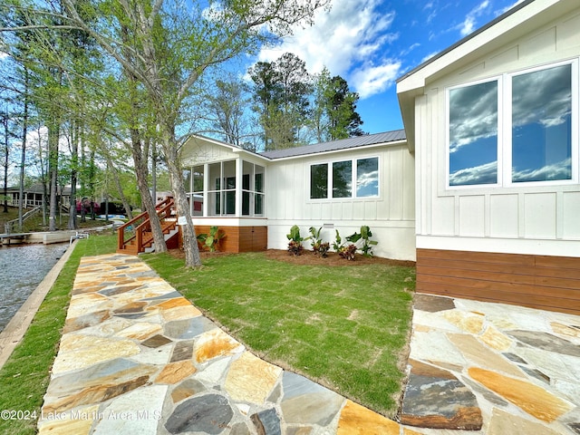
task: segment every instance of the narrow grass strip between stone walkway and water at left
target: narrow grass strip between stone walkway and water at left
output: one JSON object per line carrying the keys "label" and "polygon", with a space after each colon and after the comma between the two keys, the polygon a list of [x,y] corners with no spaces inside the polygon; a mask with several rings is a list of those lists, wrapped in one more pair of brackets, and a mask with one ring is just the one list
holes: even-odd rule
{"label": "narrow grass strip between stone walkway and water at left", "polygon": [[[22,342],[0,370],[0,410],[28,411],[31,416],[35,412],[36,417],[40,414],[81,257],[114,252],[116,240],[116,235],[79,240]],[[0,433],[34,434],[36,420],[0,419]]]}

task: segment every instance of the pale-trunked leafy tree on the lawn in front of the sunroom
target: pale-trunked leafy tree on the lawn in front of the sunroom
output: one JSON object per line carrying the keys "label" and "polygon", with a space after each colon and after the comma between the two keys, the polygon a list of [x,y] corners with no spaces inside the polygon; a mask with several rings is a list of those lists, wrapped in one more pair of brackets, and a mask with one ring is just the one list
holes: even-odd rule
{"label": "pale-trunked leafy tree on the lawn in front of the sunroom", "polygon": [[[177,129],[180,110],[191,88],[208,68],[225,63],[260,43],[287,34],[297,22],[309,20],[327,0],[229,0],[210,6],[190,3],[96,2],[99,25],[82,18],[82,4],[63,0],[68,25],[90,34],[147,92],[157,114],[161,148],[179,216],[186,218],[183,244],[187,266],[199,266],[197,238],[181,177]],[[131,39],[123,39],[125,29]],[[264,29],[267,29],[265,32]],[[136,168],[140,170],[140,168]]]}

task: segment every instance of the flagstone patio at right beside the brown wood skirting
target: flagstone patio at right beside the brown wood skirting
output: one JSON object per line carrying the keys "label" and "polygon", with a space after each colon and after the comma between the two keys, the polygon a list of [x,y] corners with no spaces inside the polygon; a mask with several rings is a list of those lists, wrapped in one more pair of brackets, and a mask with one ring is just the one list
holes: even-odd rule
{"label": "flagstone patio at right beside the brown wood skirting", "polygon": [[423,434],[580,434],[580,317],[415,295],[401,422]]}

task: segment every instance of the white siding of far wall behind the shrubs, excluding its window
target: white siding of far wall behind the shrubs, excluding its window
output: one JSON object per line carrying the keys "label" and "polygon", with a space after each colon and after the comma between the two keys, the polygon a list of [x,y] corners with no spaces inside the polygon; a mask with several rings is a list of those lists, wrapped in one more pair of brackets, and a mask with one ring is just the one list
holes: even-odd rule
{"label": "white siding of far wall behind the shrubs, excluding its window", "polygon": [[[310,198],[311,165],[371,157],[379,158],[378,198]],[[324,241],[331,244],[336,229],[346,237],[368,225],[379,242],[373,247],[375,256],[414,261],[414,172],[406,143],[275,160],[268,166],[266,183],[268,247],[285,249],[293,225],[303,237],[309,227],[324,227]]]}

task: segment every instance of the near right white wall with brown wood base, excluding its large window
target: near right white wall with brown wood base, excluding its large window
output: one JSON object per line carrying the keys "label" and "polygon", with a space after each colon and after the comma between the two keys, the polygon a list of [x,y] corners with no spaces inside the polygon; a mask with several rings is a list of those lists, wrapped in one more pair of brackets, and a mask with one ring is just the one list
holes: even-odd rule
{"label": "near right white wall with brown wood base, excluding its large window", "polygon": [[580,185],[446,186],[446,89],[577,59],[580,7],[551,19],[428,80],[415,100],[418,291],[580,314]]}

